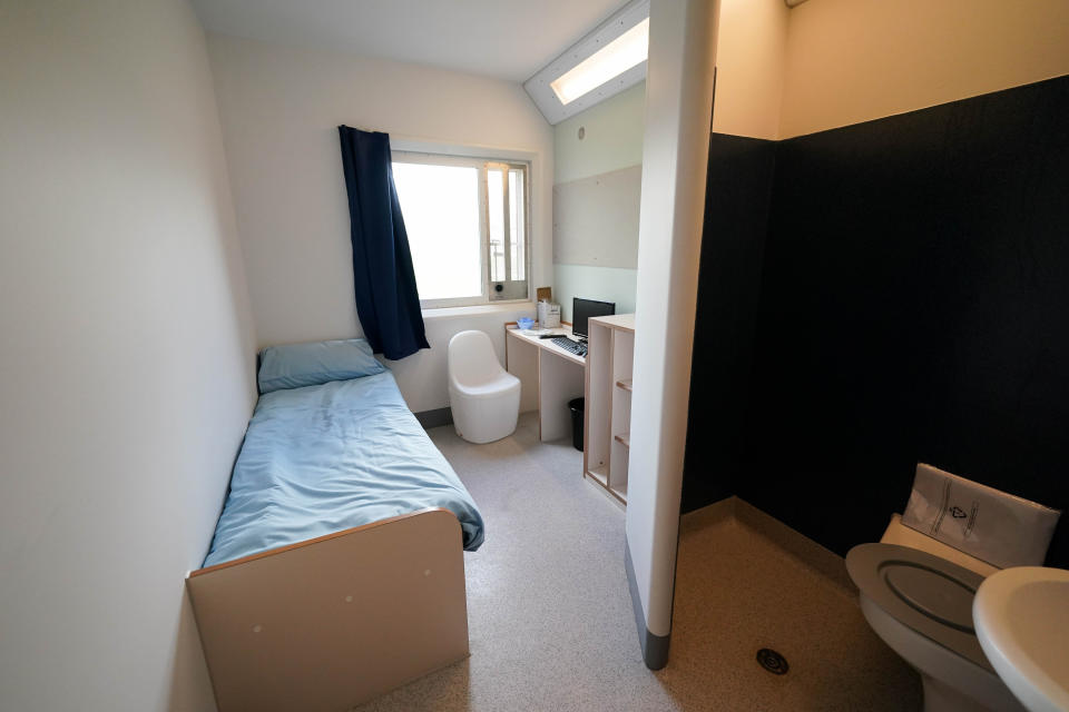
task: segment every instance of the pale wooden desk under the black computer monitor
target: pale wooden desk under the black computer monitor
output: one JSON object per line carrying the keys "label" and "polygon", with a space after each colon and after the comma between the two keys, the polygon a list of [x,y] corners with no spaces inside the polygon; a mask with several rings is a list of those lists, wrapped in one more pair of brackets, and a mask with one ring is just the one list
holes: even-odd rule
{"label": "pale wooden desk under the black computer monitor", "polygon": [[[570,328],[550,330],[571,336]],[[521,384],[520,412],[538,411],[539,439],[570,437],[568,402],[582,397],[586,359],[513,325],[506,325],[504,335],[504,367]]]}

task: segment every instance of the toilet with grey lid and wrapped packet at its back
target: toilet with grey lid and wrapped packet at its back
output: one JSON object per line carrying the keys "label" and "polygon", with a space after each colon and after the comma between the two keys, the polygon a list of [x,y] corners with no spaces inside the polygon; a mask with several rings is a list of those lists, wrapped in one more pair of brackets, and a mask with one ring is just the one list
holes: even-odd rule
{"label": "toilet with grey lid and wrapped packet at its back", "polygon": [[[975,503],[981,496],[992,497],[993,504],[983,500],[987,506],[982,512],[991,513],[988,521],[997,520],[996,514],[999,513],[994,510],[999,506],[1008,510],[1034,507],[1036,514],[1032,516],[1038,517],[1038,524],[1033,527],[1036,532],[1028,531],[1027,526],[1022,527],[1021,532],[1021,538],[1032,540],[1032,551],[1018,554],[1021,561],[1000,560],[999,563],[1003,567],[1030,565],[1034,563],[1037,551],[1040,560],[1042,558],[1059,512],[970,483],[928,465],[919,465],[918,483],[921,482],[922,467],[926,468],[926,476],[939,478],[939,483],[935,483],[939,486],[943,486],[940,483],[945,482],[945,494],[939,495],[942,500],[942,514],[926,513],[932,517],[933,524],[929,531],[938,532],[943,515],[952,508],[948,502],[953,482],[960,493],[958,496],[974,503],[972,512],[977,521],[979,517],[975,512],[980,507]],[[935,486],[930,490],[939,491]],[[993,497],[1009,500],[1003,505]],[[918,496],[918,486],[914,485],[910,505],[913,506],[916,500],[923,500],[923,496]],[[1026,514],[1031,512],[1030,510]],[[935,521],[936,516],[939,521]],[[958,515],[949,515],[954,516]],[[1018,521],[1022,518],[1019,517]],[[1028,521],[1027,516],[1023,521]],[[979,527],[983,524],[983,521],[979,524],[970,523],[967,534],[973,533],[973,525]],[[1013,536],[1010,532],[1003,534],[1007,535]],[[862,613],[873,631],[921,674],[926,712],[1024,710],[988,662],[972,623],[972,600],[977,589],[987,576],[999,571],[999,566],[938,541],[918,531],[915,525],[906,526],[903,517],[894,514],[880,543],[861,544],[850,550],[846,554],[846,568],[857,585]]]}

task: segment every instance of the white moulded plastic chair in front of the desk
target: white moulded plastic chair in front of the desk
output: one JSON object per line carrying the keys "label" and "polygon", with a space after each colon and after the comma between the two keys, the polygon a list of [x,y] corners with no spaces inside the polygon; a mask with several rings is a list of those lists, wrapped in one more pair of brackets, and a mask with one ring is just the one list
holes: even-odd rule
{"label": "white moulded plastic chair in front of the desk", "polygon": [[501,367],[483,332],[449,340],[449,405],[457,435],[469,443],[492,443],[516,431],[520,379]]}

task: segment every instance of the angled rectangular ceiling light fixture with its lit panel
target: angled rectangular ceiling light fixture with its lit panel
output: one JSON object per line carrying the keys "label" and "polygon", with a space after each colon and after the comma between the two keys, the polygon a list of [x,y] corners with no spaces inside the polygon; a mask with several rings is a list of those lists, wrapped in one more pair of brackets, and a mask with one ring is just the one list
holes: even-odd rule
{"label": "angled rectangular ceiling light fixture with its lit panel", "polygon": [[649,0],[631,0],[523,82],[557,125],[646,78]]}

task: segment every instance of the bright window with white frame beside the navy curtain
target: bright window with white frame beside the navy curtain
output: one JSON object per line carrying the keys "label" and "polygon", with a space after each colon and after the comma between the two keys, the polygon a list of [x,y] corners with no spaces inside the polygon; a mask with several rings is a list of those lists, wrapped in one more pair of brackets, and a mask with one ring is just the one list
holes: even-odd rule
{"label": "bright window with white frame beside the navy curtain", "polygon": [[528,166],[394,151],[424,308],[527,299]]}

